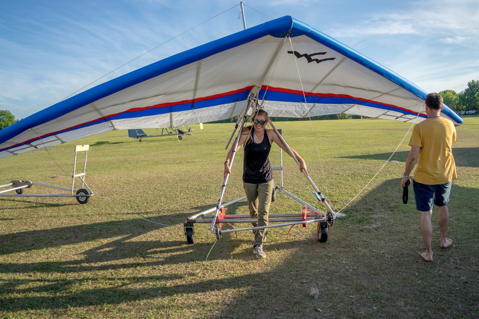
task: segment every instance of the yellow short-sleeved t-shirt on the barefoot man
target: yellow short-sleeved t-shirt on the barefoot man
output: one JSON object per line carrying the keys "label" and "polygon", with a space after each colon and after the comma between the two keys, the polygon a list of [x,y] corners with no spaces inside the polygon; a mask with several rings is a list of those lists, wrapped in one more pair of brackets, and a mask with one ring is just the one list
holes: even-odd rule
{"label": "yellow short-sleeved t-shirt on the barefoot man", "polygon": [[413,180],[426,185],[445,184],[457,178],[452,156],[456,140],[454,124],[444,117],[428,118],[416,124],[409,145],[419,146]]}

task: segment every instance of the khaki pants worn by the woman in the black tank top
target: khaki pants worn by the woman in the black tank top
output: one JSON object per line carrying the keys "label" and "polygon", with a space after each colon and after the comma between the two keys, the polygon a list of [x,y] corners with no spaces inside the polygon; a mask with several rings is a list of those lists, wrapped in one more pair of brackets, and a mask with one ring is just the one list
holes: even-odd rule
{"label": "khaki pants worn by the woman in the black tank top", "polygon": [[[256,226],[268,225],[268,213],[271,206],[271,196],[273,194],[274,182],[273,180],[267,183],[250,184],[243,182],[246,199],[248,200],[248,209],[250,210],[251,218],[258,218],[258,223],[252,223]],[[262,245],[266,239],[266,229],[253,230],[254,243]]]}

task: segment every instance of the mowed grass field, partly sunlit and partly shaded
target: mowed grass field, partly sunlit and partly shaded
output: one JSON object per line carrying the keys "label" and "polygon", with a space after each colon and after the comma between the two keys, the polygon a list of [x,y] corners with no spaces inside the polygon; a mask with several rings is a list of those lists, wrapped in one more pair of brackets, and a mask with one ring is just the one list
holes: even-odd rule
{"label": "mowed grass field, partly sunlit and partly shaded", "polygon": [[[95,193],[85,205],[73,198],[0,197],[0,317],[479,316],[479,117],[468,117],[457,128],[459,178],[448,230],[453,245],[439,247],[435,209],[433,263],[418,254],[423,242],[412,189],[408,204],[401,200],[410,124],[373,119],[275,124],[307,161],[335,211],[384,168],[342,210],[346,217],[336,220],[326,243],[317,242],[313,224],[295,226],[289,240],[288,227],[273,228],[264,260],[251,254],[251,232],[240,232],[238,239],[222,235],[206,261],[216,240],[205,229],[209,225],[196,225],[193,245],[186,244],[182,229],[187,216],[216,205],[233,124],[205,124],[203,130],[194,125],[193,135],[181,141],[138,142],[126,131],[113,131],[0,159],[0,184],[21,179],[69,187],[74,145],[90,144],[86,181]],[[399,144],[391,158],[399,162],[386,163]],[[243,195],[242,156],[241,149],[225,201]],[[283,157],[285,190],[325,211],[293,160]],[[279,165],[277,146],[270,158]],[[79,167],[82,162],[79,153]],[[56,175],[66,177],[52,178]],[[25,191],[56,192],[38,186]],[[283,194],[271,209],[300,211],[301,205]],[[247,213],[246,202],[229,206],[227,213]],[[314,288],[318,298],[310,296]]]}

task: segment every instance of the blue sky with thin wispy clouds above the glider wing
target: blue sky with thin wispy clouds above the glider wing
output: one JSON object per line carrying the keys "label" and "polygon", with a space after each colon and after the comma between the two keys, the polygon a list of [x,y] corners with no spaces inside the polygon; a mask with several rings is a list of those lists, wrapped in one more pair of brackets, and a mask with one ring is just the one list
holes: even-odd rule
{"label": "blue sky with thin wispy clouds above the glider wing", "polygon": [[[271,18],[291,15],[428,92],[458,92],[479,79],[478,0],[244,3],[248,27],[270,20],[260,12]],[[86,88],[241,31],[237,5],[237,0],[3,0],[0,109],[27,117],[223,11]]]}

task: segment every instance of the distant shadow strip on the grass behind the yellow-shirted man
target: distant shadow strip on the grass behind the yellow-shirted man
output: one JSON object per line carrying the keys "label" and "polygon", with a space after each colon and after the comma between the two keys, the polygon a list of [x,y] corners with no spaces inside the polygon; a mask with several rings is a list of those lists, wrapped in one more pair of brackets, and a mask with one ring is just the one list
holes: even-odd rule
{"label": "distant shadow strip on the grass behind the yellow-shirted man", "polygon": [[[479,148],[453,148],[452,149],[456,166],[463,167],[479,167],[479,161],[477,154],[479,154]],[[394,153],[394,156],[390,160],[397,160],[400,162],[406,162],[409,151],[400,151]],[[355,155],[355,156],[343,156],[344,159],[380,159],[388,160],[391,153],[380,154],[367,154],[367,155]]]}

